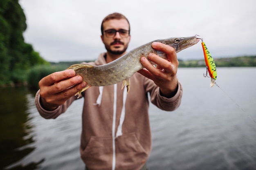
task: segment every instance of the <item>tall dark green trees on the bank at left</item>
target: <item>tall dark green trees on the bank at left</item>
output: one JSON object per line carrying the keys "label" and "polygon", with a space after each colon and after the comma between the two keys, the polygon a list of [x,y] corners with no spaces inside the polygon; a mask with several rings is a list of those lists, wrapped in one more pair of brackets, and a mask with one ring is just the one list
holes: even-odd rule
{"label": "tall dark green trees on the bank at left", "polygon": [[18,0],[0,0],[0,85],[26,81],[29,68],[47,64],[24,42],[26,17]]}

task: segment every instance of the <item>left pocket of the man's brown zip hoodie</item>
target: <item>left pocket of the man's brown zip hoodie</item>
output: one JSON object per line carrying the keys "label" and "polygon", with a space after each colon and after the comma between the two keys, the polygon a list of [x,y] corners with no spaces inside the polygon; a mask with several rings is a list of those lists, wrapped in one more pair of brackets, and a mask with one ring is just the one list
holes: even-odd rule
{"label": "left pocket of the man's brown zip hoodie", "polygon": [[112,137],[92,136],[81,157],[89,169],[107,170],[112,167],[112,152]]}

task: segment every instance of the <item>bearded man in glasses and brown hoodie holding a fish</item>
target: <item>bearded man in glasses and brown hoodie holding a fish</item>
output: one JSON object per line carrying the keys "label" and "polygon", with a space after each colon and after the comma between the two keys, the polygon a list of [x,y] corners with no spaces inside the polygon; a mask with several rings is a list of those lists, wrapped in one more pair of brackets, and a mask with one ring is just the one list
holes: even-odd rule
{"label": "bearded man in glasses and brown hoodie holding a fish", "polygon": [[[130,24],[124,15],[108,15],[102,22],[101,33],[107,52],[89,64],[107,64],[126,53]],[[153,43],[152,47],[166,53],[168,60],[150,53],[148,59],[158,64],[161,68],[158,69],[141,57],[140,62],[146,69],[130,78],[129,94],[126,94],[126,89],[121,90],[122,82],[104,87],[92,86],[82,93],[80,151],[88,170],[146,169],[151,150],[147,94],[150,93],[151,102],[163,110],[175,110],[180,105],[182,86],[176,76],[178,61],[175,50],[161,43]],[[46,119],[58,117],[86,85],[73,70],[44,77],[39,82],[40,90],[35,99],[40,115]]]}

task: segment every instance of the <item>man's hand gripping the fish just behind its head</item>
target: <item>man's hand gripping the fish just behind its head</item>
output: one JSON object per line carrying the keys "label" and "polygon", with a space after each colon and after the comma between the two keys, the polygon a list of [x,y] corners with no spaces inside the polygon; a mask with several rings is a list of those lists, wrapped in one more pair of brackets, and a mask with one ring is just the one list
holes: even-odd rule
{"label": "man's hand gripping the fish just behind its head", "polygon": [[176,73],[179,62],[175,49],[159,42],[153,42],[152,48],[166,53],[168,60],[154,53],[149,53],[148,59],[157,64],[157,68],[145,57],[141,57],[140,62],[146,69],[141,69],[138,73],[152,79],[159,86],[162,96],[171,98],[176,94],[178,88]]}

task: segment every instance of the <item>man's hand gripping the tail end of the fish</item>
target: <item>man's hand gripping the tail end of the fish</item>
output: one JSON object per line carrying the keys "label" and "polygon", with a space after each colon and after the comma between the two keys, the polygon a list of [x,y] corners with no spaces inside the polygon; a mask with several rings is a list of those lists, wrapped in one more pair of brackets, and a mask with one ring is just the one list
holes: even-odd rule
{"label": "man's hand gripping the tail end of the fish", "polygon": [[39,81],[40,102],[45,110],[54,110],[87,86],[81,76],[75,75],[74,70],[65,70],[47,75]]}

